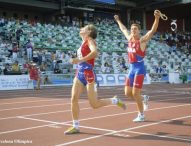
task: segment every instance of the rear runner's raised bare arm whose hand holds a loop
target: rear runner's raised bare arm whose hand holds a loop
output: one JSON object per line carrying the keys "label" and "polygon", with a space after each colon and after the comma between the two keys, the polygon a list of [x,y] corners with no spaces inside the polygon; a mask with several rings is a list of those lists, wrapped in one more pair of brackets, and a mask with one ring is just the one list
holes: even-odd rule
{"label": "rear runner's raised bare arm whose hand holds a loop", "polygon": [[152,36],[154,35],[154,33],[157,31],[158,28],[158,24],[159,24],[159,18],[160,18],[160,12],[158,12],[157,10],[154,11],[154,16],[155,16],[155,20],[153,23],[153,26],[151,28],[151,30],[149,30],[146,35],[144,35],[141,38],[141,42],[148,42]]}

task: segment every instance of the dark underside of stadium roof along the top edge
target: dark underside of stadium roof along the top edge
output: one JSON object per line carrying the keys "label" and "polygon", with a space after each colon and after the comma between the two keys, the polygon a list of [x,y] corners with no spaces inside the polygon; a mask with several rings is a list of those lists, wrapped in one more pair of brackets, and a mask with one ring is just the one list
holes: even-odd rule
{"label": "dark underside of stadium roof along the top edge", "polygon": [[127,7],[130,9],[144,8],[145,10],[167,8],[181,4],[191,4],[191,0],[0,0],[0,7],[7,5],[44,8],[59,10],[60,8],[110,8]]}

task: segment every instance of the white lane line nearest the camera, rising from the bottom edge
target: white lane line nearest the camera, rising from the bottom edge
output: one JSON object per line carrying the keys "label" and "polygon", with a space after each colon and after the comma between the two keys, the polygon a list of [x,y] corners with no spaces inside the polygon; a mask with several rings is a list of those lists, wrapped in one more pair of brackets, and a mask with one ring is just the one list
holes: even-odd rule
{"label": "white lane line nearest the camera, rising from the bottom edge", "polygon": [[170,122],[170,121],[174,121],[174,120],[180,120],[180,119],[186,119],[186,118],[190,118],[190,117],[191,117],[191,115],[184,116],[184,117],[179,117],[179,118],[174,118],[174,119],[169,119],[169,120],[164,120],[164,121],[159,121],[159,122],[155,122],[155,123],[152,123],[152,124],[145,124],[145,125],[142,125],[142,126],[122,129],[122,130],[118,130],[118,131],[114,131],[114,132],[108,132],[108,133],[105,133],[105,134],[102,134],[102,135],[91,136],[91,137],[88,137],[88,138],[83,138],[83,139],[79,139],[79,140],[75,140],[75,141],[71,141],[71,142],[57,144],[55,146],[71,145],[71,144],[80,143],[80,142],[83,142],[83,141],[88,141],[88,140],[92,140],[92,139],[101,138],[101,137],[104,137],[104,136],[107,136],[107,135],[113,135],[113,134],[120,133],[120,132],[126,132],[126,131],[130,131],[130,130],[133,130],[133,129],[148,127],[148,126],[152,126],[152,125],[158,125],[158,124],[161,124],[161,123]]}

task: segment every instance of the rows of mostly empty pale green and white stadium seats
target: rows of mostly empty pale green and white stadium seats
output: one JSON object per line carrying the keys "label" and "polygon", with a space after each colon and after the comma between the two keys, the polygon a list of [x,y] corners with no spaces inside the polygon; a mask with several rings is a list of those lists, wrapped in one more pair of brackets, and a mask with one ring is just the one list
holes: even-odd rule
{"label": "rows of mostly empty pale green and white stadium seats", "polygon": [[[103,19],[100,23],[95,23],[98,29],[98,50],[100,56],[95,64],[96,71],[98,73],[126,73],[127,71],[121,68],[122,58],[126,61],[125,65],[128,68],[126,47],[127,41],[123,34],[120,32],[117,24],[113,20]],[[51,52],[56,50],[65,51],[67,58],[63,58],[62,64],[60,65],[61,70],[66,73],[65,64],[69,64],[68,60],[71,56],[69,50],[76,51],[81,43],[79,37],[79,26],[78,25],[53,25],[53,24],[41,24],[36,23],[32,25],[27,21],[10,20],[8,23],[0,27],[1,37],[0,42],[0,67],[3,68],[3,64],[12,63],[12,59],[7,57],[11,50],[11,42],[7,41],[10,32],[14,32],[17,29],[22,29],[23,34],[20,37],[20,44],[24,48],[27,40],[31,40],[34,48],[43,50],[45,60],[49,60],[49,68],[51,68]],[[145,33],[143,31],[142,33]],[[157,66],[165,66],[164,72],[168,73],[171,70],[175,70],[176,67],[182,63],[183,66],[191,66],[191,55],[187,57],[186,54],[180,50],[170,52],[171,48],[165,43],[157,40],[160,38],[158,34],[155,35],[154,39],[151,40],[147,46],[147,56],[145,57],[145,66],[148,73],[155,73]],[[4,44],[6,41],[6,45]],[[69,52],[69,53],[67,53]],[[36,52],[37,54],[39,51]],[[20,66],[25,62],[24,59],[19,57],[18,61]],[[101,64],[101,68],[100,68]],[[105,66],[107,64],[107,66]],[[50,69],[49,69],[50,70]]]}

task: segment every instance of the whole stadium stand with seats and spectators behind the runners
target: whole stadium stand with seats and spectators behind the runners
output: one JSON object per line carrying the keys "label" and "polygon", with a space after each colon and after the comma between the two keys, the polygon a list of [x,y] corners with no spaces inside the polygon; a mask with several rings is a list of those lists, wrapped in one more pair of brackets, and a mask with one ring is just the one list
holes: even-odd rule
{"label": "whole stadium stand with seats and spectators behind the runners", "polygon": [[[55,2],[55,1],[54,1]],[[61,17],[59,17],[61,19]],[[69,58],[74,57],[80,45],[79,29],[82,25],[76,17],[64,17],[64,23],[42,23],[16,18],[0,18],[0,68],[4,70],[18,61],[22,74],[27,73],[25,64],[30,61],[39,66],[46,63],[43,73],[74,72]],[[63,21],[63,20],[62,20]],[[127,42],[114,22],[113,18],[95,17],[84,20],[83,24],[94,23],[98,28],[97,44],[99,59],[95,70],[100,74],[127,73],[126,55]],[[146,30],[142,32],[144,34]],[[155,34],[147,47],[145,66],[147,73],[157,81],[166,81],[169,72],[177,71],[191,73],[191,33],[160,33]],[[28,47],[28,41],[31,47]],[[15,45],[16,44],[16,45]],[[29,57],[27,49],[32,48],[33,57]],[[101,67],[100,67],[101,66]],[[43,67],[42,67],[43,68]],[[184,70],[184,71],[183,71]],[[3,72],[1,72],[3,74]]]}

